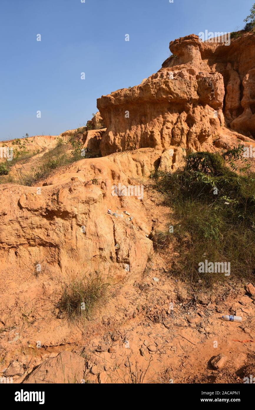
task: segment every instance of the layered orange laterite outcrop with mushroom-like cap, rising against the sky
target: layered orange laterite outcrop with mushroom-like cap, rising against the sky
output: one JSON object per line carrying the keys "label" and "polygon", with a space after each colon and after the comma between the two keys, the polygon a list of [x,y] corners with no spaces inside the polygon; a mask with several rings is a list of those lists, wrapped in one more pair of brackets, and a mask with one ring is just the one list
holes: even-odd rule
{"label": "layered orange laterite outcrop with mushroom-like cap, rising against the sky", "polygon": [[214,139],[228,139],[224,127],[254,136],[255,36],[225,46],[191,34],[169,48],[173,55],[156,74],[97,100],[107,128],[102,155],[147,147],[213,151]]}

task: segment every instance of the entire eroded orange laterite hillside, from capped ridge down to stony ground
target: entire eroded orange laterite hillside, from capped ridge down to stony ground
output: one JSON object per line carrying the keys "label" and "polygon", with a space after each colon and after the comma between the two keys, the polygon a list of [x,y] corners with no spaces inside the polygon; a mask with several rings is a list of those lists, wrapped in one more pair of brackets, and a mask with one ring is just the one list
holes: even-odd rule
{"label": "entire eroded orange laterite hillside, from capped ridge down to stony ground", "polygon": [[[56,168],[35,186],[0,185],[0,376],[7,371],[16,383],[62,382],[63,360],[71,383],[73,375],[74,383],[131,383],[131,369],[145,373],[148,383],[169,383],[172,374],[174,383],[192,383],[201,371],[210,376],[215,335],[231,380],[248,360],[246,344],[237,342],[253,336],[242,335],[236,323],[221,326],[219,301],[223,312],[235,310],[252,328],[254,298],[241,285],[224,285],[226,295],[219,287],[205,303],[189,300],[169,276],[169,255],[153,251],[151,232],[169,229],[172,214],[149,176],[155,169],[175,171],[190,151],[221,152],[240,141],[255,146],[255,36],[246,33],[224,46],[191,34],[169,48],[173,55],[157,73],[102,96],[87,128],[59,136],[66,143],[78,135],[72,142],[94,158]],[[16,171],[36,166],[59,137],[29,137],[37,154]],[[248,162],[254,169],[254,159]],[[113,195],[113,187],[123,185],[142,185],[143,195]],[[95,272],[109,280],[111,295],[85,329],[70,326],[60,295],[71,280]],[[252,296],[251,284],[248,291]]]}

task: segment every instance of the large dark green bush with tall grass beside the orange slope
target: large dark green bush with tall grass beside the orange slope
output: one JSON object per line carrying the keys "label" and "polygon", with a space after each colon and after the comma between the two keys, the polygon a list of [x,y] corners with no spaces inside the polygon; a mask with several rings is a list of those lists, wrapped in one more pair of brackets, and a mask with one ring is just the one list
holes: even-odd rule
{"label": "large dark green bush with tall grass beside the orange slope", "polygon": [[[237,173],[226,165],[233,162],[237,168],[240,149],[222,157],[193,153],[183,171],[152,175],[164,205],[174,212],[174,232],[167,232],[165,238],[180,254],[173,273],[184,280],[202,279],[206,285],[222,280],[222,273],[198,272],[199,262],[205,259],[230,262],[231,275],[254,280],[255,173]],[[162,251],[165,246],[155,248]]]}

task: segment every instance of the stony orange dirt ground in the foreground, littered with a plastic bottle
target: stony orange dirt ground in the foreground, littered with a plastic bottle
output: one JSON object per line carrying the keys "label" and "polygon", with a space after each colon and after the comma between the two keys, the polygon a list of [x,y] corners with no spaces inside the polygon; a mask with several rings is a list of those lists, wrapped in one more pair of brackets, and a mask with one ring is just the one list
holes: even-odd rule
{"label": "stony orange dirt ground in the foreground, littered with a plastic bottle", "polygon": [[[169,223],[161,199],[148,189],[143,201],[152,227]],[[107,303],[92,320],[77,325],[68,324],[56,308],[58,275],[45,271],[35,278],[24,266],[18,289],[11,289],[15,282],[8,275],[0,299],[6,306],[0,376],[17,360],[22,376],[13,381],[22,383],[35,366],[70,351],[84,358],[77,383],[244,383],[255,374],[254,297],[245,283],[231,279],[210,292],[194,292],[169,276],[174,257],[171,251],[153,253],[142,275],[115,278]],[[242,322],[223,321],[221,315],[228,313],[242,316]],[[228,360],[214,370],[210,361],[219,353]]]}

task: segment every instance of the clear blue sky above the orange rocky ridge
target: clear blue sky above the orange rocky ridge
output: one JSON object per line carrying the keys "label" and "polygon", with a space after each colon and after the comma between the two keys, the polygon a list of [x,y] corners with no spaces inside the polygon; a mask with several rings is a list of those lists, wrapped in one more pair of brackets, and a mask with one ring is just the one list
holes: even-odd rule
{"label": "clear blue sky above the orange rocky ridge", "polygon": [[158,71],[169,41],[241,29],[254,1],[0,0],[0,140],[85,125],[98,97]]}

